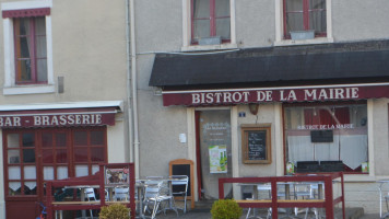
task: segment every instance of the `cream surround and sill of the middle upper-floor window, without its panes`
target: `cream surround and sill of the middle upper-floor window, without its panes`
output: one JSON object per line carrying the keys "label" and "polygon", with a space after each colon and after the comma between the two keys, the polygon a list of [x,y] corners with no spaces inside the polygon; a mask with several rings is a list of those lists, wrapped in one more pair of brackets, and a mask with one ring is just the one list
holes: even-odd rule
{"label": "cream surround and sill of the middle upper-floor window, without its panes", "polygon": [[235,35],[235,1],[229,0],[229,42],[224,42],[217,45],[194,45],[192,41],[192,0],[182,0],[182,51],[190,50],[217,50],[217,49],[233,49],[237,48],[236,35]]}

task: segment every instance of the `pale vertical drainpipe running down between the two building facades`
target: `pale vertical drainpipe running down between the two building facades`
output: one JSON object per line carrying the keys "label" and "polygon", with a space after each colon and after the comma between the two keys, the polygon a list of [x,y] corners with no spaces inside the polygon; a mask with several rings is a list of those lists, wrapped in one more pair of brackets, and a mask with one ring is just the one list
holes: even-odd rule
{"label": "pale vertical drainpipe running down between the two building facades", "polygon": [[[128,0],[127,0],[128,1]],[[138,126],[138,88],[137,88],[137,47],[135,47],[135,15],[134,0],[130,0],[130,56],[131,56],[131,96],[132,96],[132,123],[133,123],[133,160],[135,163],[135,176],[139,177],[139,126]]]}

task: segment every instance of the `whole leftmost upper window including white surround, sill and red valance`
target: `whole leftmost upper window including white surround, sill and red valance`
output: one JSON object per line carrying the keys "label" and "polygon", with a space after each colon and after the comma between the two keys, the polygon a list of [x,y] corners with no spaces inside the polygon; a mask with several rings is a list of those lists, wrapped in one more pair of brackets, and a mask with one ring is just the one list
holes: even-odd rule
{"label": "whole leftmost upper window including white surround, sill and red valance", "polygon": [[51,0],[1,3],[3,95],[54,93]]}

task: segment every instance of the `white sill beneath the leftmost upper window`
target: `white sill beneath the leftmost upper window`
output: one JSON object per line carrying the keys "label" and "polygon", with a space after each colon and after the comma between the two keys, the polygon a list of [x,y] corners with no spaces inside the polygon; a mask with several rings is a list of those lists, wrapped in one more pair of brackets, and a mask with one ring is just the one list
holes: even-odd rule
{"label": "white sill beneath the leftmost upper window", "polygon": [[3,95],[19,95],[19,94],[38,94],[38,93],[54,93],[55,85],[21,85],[3,88]]}

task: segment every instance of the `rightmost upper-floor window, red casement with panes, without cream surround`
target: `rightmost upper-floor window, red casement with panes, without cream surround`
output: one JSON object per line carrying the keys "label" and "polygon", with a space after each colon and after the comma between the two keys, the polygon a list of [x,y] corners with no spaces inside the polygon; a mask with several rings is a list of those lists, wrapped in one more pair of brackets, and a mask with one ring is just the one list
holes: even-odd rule
{"label": "rightmost upper-floor window, red casement with panes, without cream surround", "polygon": [[283,0],[284,37],[291,32],[315,31],[315,36],[327,36],[326,0]]}

